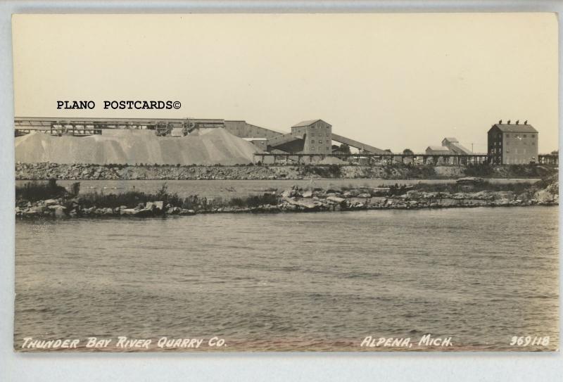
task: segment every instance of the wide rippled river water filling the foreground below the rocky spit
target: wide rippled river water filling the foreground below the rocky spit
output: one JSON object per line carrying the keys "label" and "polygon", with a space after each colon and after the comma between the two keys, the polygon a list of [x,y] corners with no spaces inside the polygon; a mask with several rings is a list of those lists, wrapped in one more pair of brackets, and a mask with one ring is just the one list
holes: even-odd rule
{"label": "wide rippled river water filling the foreground below the rocky spit", "polygon": [[15,348],[218,336],[223,350],[365,350],[366,336],[431,333],[453,350],[555,350],[557,221],[557,207],[18,221]]}

